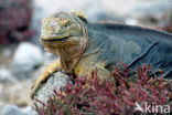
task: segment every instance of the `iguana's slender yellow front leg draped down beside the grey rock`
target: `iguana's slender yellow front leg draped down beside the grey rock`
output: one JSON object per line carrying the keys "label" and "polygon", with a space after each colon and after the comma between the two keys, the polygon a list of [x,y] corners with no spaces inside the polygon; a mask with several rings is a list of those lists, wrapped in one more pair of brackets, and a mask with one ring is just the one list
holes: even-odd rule
{"label": "iguana's slender yellow front leg draped down beside the grey rock", "polygon": [[54,73],[55,71],[62,70],[61,61],[55,60],[52,63],[50,63],[43,73],[40,75],[40,77],[36,80],[36,82],[31,87],[31,97],[33,98],[36,91],[41,86],[41,84],[49,79],[49,76]]}

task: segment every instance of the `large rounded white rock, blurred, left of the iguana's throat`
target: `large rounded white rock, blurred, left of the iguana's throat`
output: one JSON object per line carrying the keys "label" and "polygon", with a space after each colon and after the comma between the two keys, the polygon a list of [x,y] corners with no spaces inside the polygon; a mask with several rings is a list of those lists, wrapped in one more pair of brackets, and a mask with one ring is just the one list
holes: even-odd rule
{"label": "large rounded white rock, blurred, left of the iguana's throat", "polygon": [[35,66],[43,62],[43,53],[41,48],[29,43],[22,42],[14,53],[12,62],[12,73],[19,80],[24,80],[31,76]]}

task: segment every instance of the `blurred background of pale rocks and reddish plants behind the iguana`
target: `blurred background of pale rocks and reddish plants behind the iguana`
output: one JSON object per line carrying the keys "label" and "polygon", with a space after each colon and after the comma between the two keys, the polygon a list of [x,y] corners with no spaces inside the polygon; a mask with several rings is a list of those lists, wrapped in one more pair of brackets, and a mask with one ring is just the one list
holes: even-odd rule
{"label": "blurred background of pale rocks and reddish plants behind the iguana", "polygon": [[0,0],[0,115],[29,112],[31,84],[54,59],[39,43],[41,20],[71,10],[85,12],[90,22],[117,21],[172,33],[172,0]]}

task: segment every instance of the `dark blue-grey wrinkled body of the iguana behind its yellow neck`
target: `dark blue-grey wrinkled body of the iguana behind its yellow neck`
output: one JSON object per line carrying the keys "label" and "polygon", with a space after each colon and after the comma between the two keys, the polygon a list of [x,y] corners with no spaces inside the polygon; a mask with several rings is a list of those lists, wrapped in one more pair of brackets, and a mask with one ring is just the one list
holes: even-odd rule
{"label": "dark blue-grey wrinkled body of the iguana behind its yellow neck", "polygon": [[88,45],[85,54],[99,52],[97,60],[106,66],[118,60],[135,69],[151,64],[154,72],[172,76],[172,34],[141,27],[119,23],[86,23]]}

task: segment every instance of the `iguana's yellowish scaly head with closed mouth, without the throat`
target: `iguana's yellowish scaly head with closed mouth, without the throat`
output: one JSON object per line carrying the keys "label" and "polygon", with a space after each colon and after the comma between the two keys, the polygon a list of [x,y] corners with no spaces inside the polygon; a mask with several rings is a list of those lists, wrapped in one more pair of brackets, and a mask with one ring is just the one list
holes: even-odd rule
{"label": "iguana's yellowish scaly head with closed mouth, without the throat", "polygon": [[41,43],[56,46],[76,44],[85,34],[84,31],[83,22],[77,14],[58,12],[43,19]]}

